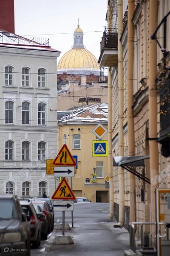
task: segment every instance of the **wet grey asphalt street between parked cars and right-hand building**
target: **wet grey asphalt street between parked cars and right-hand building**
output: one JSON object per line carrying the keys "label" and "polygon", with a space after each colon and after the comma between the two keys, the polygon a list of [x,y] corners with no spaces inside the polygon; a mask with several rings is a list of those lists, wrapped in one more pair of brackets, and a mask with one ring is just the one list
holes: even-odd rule
{"label": "wet grey asphalt street between parked cars and right-hand building", "polygon": [[[73,213],[71,227],[71,212],[65,212],[65,223],[71,227],[65,236],[71,236],[74,244],[53,245],[55,236],[62,236],[62,230],[54,229],[39,249],[31,249],[31,256],[124,256],[124,250],[129,249],[129,233],[113,228],[116,221],[109,218],[109,204],[77,203]],[[62,223],[62,212],[55,212],[55,221],[56,227]]]}

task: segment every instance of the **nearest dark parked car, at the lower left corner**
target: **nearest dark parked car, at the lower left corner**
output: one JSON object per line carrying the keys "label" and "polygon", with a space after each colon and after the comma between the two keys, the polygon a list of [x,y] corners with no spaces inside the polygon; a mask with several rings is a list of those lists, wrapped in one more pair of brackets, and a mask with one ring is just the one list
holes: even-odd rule
{"label": "nearest dark parked car, at the lower left corner", "polygon": [[16,195],[0,196],[0,255],[30,256],[30,225]]}

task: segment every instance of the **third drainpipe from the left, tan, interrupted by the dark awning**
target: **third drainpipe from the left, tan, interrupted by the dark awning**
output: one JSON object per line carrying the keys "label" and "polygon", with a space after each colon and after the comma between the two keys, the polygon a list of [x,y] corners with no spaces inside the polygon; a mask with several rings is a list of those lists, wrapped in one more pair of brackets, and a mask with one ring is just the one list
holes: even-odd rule
{"label": "third drainpipe from the left, tan, interrupted by the dark awning", "polygon": [[[135,152],[135,134],[133,120],[133,55],[134,55],[134,28],[133,28],[133,12],[135,9],[134,0],[128,0],[128,20],[127,20],[127,140],[128,154],[134,156]],[[135,204],[135,175],[129,173],[130,187],[130,222],[136,221],[136,204]]]}

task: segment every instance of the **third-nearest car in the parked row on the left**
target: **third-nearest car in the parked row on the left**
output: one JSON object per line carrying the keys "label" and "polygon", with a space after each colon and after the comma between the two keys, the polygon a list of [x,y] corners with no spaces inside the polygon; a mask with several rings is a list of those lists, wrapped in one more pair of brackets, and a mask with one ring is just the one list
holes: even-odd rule
{"label": "third-nearest car in the parked row on the left", "polygon": [[48,236],[48,221],[39,204],[33,204],[39,221],[41,223],[41,239],[46,240]]}

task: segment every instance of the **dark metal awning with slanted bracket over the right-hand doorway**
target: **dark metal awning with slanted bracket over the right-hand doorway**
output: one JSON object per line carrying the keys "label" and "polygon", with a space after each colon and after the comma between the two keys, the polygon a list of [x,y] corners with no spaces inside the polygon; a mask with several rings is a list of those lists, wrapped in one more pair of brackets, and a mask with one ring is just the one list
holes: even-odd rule
{"label": "dark metal awning with slanted bracket over the right-hand doorway", "polygon": [[146,181],[150,184],[150,179],[145,177],[145,175],[136,171],[137,166],[145,166],[144,160],[149,159],[150,156],[133,156],[133,157],[113,157],[113,166],[121,166],[122,168],[126,169],[128,172],[133,173],[136,177]]}

